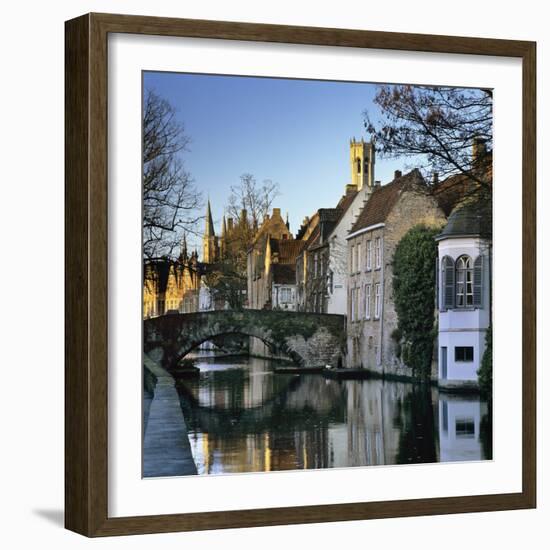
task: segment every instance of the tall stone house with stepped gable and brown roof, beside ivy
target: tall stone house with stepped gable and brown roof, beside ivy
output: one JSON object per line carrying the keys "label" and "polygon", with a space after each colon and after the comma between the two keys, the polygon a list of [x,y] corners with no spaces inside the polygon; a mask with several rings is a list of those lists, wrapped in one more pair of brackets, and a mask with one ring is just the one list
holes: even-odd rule
{"label": "tall stone house with stepped gable and brown roof, beside ivy", "polygon": [[423,224],[442,227],[445,215],[418,170],[373,190],[347,236],[347,366],[410,376],[392,334],[393,255],[401,238]]}

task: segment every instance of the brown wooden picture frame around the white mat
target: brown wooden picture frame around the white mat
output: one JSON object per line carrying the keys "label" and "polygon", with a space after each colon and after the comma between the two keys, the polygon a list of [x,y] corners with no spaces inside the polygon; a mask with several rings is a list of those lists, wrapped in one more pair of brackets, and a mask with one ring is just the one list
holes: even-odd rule
{"label": "brown wooden picture frame around the white mat", "polygon": [[[519,58],[523,70],[522,491],[139,517],[108,516],[107,37],[109,33]],[[65,27],[65,525],[86,536],[482,512],[536,506],[534,42],[87,14]]]}

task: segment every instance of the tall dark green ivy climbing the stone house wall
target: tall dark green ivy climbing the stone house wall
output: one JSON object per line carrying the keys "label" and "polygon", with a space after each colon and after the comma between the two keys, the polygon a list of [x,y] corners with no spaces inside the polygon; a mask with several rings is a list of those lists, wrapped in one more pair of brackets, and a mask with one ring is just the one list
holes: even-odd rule
{"label": "tall dark green ivy climbing the stone house wall", "polygon": [[403,362],[415,376],[430,375],[434,331],[435,236],[440,228],[417,225],[399,241],[393,257],[396,336]]}

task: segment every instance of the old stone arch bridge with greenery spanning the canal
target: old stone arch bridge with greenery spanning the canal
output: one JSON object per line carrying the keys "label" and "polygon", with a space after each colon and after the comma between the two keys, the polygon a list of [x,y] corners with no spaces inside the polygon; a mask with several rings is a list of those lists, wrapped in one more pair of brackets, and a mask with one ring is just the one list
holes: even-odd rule
{"label": "old stone arch bridge with greenery spanning the canal", "polygon": [[244,334],[301,367],[336,367],[345,350],[345,322],[344,315],[256,309],[168,314],[143,322],[143,347],[153,361],[171,369],[215,336]]}

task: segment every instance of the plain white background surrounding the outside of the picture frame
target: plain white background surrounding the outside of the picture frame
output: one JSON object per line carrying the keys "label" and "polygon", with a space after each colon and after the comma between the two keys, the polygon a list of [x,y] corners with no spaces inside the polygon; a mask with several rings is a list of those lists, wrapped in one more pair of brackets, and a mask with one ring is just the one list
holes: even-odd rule
{"label": "plain white background surrounding the outside of the picture frame", "polygon": [[[384,6],[369,9],[363,0],[349,0],[345,9],[339,3],[323,4],[313,0],[300,3],[290,0],[277,3],[251,0],[208,3],[20,0],[6,3],[3,20],[10,24],[4,26],[0,37],[3,52],[0,95],[2,105],[9,108],[4,109],[0,140],[5,158],[9,159],[3,163],[3,181],[12,184],[5,186],[0,203],[0,234],[6,238],[4,250],[13,250],[13,228],[17,228],[17,243],[25,243],[25,248],[33,243],[30,247],[33,261],[36,265],[47,265],[48,269],[41,272],[41,284],[47,289],[41,296],[41,329],[33,334],[32,341],[33,348],[41,352],[39,361],[35,357],[30,361],[21,355],[29,342],[25,332],[19,330],[27,324],[27,313],[35,310],[36,296],[18,292],[8,292],[5,296],[5,311],[11,312],[8,326],[11,345],[6,350],[4,365],[17,369],[19,389],[15,391],[14,386],[7,386],[0,400],[3,441],[9,442],[0,455],[4,472],[0,506],[8,518],[0,536],[3,546],[140,550],[159,545],[163,549],[185,546],[270,550],[314,544],[318,550],[334,550],[342,546],[343,541],[357,545],[368,540],[369,545],[388,549],[408,548],[411,541],[422,541],[426,550],[439,550],[444,541],[446,550],[516,550],[525,547],[527,536],[533,548],[543,548],[550,513],[550,476],[545,468],[539,468],[539,508],[530,511],[95,541],[63,530],[63,21],[88,11],[538,40],[537,82],[539,98],[543,98],[538,104],[539,151],[547,151],[550,146],[549,107],[544,101],[550,84],[548,16],[544,15],[546,5],[535,0],[525,0],[519,9],[510,2],[462,0],[460,8],[451,12],[441,9],[440,0],[395,0],[391,9]],[[538,159],[539,181],[548,181],[547,159],[542,154]],[[25,167],[24,173],[22,167]],[[539,363],[547,365],[550,342],[545,335],[550,326],[550,293],[543,282],[544,274],[550,272],[550,248],[544,248],[542,243],[550,242],[550,191],[542,185],[539,189],[539,208],[543,209],[538,216]],[[22,216],[33,223],[21,223]],[[37,242],[47,246],[34,246]],[[511,250],[510,257],[520,261],[521,250]],[[13,283],[11,270],[2,270],[2,277],[6,288],[8,283]],[[17,274],[22,287],[33,287],[35,278],[32,269],[22,269]],[[543,465],[550,460],[550,434],[546,429],[550,424],[550,406],[546,399],[549,381],[547,371],[540,369],[538,462]],[[316,474],[311,472],[311,475]]]}

